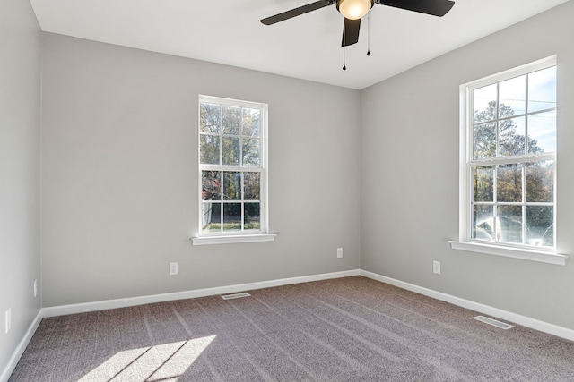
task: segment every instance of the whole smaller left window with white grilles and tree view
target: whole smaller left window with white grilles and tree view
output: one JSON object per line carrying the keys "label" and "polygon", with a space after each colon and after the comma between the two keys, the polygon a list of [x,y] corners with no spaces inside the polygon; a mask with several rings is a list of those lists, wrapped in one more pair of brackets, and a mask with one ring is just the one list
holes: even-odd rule
{"label": "whole smaller left window with white grilles and tree view", "polygon": [[265,104],[199,97],[199,237],[194,244],[273,240],[266,234],[265,134]]}

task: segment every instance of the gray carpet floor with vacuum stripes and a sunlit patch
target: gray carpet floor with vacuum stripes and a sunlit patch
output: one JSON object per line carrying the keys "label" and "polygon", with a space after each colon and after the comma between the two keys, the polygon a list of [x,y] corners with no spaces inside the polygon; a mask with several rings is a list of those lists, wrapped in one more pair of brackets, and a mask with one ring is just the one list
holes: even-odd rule
{"label": "gray carpet floor with vacuum stripes and a sunlit patch", "polygon": [[39,325],[16,381],[574,381],[574,343],[361,276]]}

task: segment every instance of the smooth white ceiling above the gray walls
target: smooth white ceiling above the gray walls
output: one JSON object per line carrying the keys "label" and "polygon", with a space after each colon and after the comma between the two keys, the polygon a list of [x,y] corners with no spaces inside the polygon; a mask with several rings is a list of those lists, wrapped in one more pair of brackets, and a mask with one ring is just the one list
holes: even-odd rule
{"label": "smooth white ceiling above the gray walls", "polygon": [[265,26],[315,0],[30,0],[44,31],[363,89],[568,0],[455,0],[440,18],[375,4],[345,49],[335,5]]}

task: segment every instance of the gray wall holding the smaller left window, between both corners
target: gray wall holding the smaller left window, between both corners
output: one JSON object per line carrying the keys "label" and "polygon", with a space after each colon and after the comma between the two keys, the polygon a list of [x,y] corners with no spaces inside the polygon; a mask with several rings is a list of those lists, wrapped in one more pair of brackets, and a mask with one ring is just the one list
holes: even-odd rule
{"label": "gray wall holding the smaller left window, between both corners", "polygon": [[[49,33],[43,43],[44,306],[360,267],[359,91]],[[198,94],[269,104],[274,242],[191,246]]]}

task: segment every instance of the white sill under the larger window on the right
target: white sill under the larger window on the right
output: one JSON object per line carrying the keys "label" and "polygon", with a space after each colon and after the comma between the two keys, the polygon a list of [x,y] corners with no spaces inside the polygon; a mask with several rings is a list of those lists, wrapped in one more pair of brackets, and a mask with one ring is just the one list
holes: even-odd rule
{"label": "white sill under the larger window on the right", "polygon": [[483,242],[449,242],[453,250],[469,250],[471,252],[486,253],[488,255],[502,256],[505,258],[538,261],[546,264],[565,266],[566,260],[569,258],[568,255],[561,255],[560,253],[547,250],[510,248]]}

